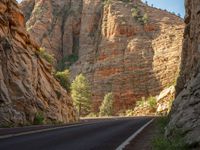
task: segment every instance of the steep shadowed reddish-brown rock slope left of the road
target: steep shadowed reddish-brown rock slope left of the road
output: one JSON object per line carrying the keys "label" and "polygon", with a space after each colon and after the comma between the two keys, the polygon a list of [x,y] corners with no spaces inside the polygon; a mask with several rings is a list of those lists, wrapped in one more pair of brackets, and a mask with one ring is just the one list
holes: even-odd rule
{"label": "steep shadowed reddish-brown rock slope left of the road", "polygon": [[67,92],[37,55],[39,46],[25,29],[15,0],[0,1],[0,125],[33,123],[42,113],[46,123],[76,121]]}

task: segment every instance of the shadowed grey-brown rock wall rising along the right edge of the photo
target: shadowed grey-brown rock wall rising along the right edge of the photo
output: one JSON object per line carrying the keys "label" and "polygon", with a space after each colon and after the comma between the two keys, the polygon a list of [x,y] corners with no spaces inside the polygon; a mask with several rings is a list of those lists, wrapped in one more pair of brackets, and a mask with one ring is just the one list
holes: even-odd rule
{"label": "shadowed grey-brown rock wall rising along the right edge of the photo", "polygon": [[200,1],[186,0],[185,33],[177,97],[167,135],[181,129],[187,143],[200,147]]}

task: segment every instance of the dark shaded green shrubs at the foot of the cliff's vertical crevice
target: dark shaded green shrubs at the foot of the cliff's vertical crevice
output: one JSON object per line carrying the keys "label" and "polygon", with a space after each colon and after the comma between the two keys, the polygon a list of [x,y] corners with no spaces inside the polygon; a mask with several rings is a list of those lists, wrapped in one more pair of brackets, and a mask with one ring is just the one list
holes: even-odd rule
{"label": "dark shaded green shrubs at the foot of the cliff's vertical crevice", "polygon": [[74,64],[78,60],[77,54],[72,54],[69,56],[63,57],[60,61],[58,61],[57,64],[57,70],[63,71],[65,69],[68,69],[72,64]]}

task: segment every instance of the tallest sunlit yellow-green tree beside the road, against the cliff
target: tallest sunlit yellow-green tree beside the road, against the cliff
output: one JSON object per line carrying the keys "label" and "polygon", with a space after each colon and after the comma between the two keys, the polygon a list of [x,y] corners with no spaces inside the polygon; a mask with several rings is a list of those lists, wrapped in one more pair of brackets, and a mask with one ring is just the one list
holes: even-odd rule
{"label": "tallest sunlit yellow-green tree beside the road, against the cliff", "polygon": [[80,116],[86,115],[91,109],[90,85],[83,74],[78,75],[71,84],[71,96]]}

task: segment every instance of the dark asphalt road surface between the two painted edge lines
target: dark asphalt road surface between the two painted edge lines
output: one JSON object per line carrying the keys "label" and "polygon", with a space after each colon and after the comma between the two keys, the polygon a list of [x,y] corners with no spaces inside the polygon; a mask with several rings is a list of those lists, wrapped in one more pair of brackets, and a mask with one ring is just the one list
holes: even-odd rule
{"label": "dark asphalt road surface between the two painted edge lines", "polygon": [[151,118],[114,118],[0,139],[0,150],[115,150]]}

